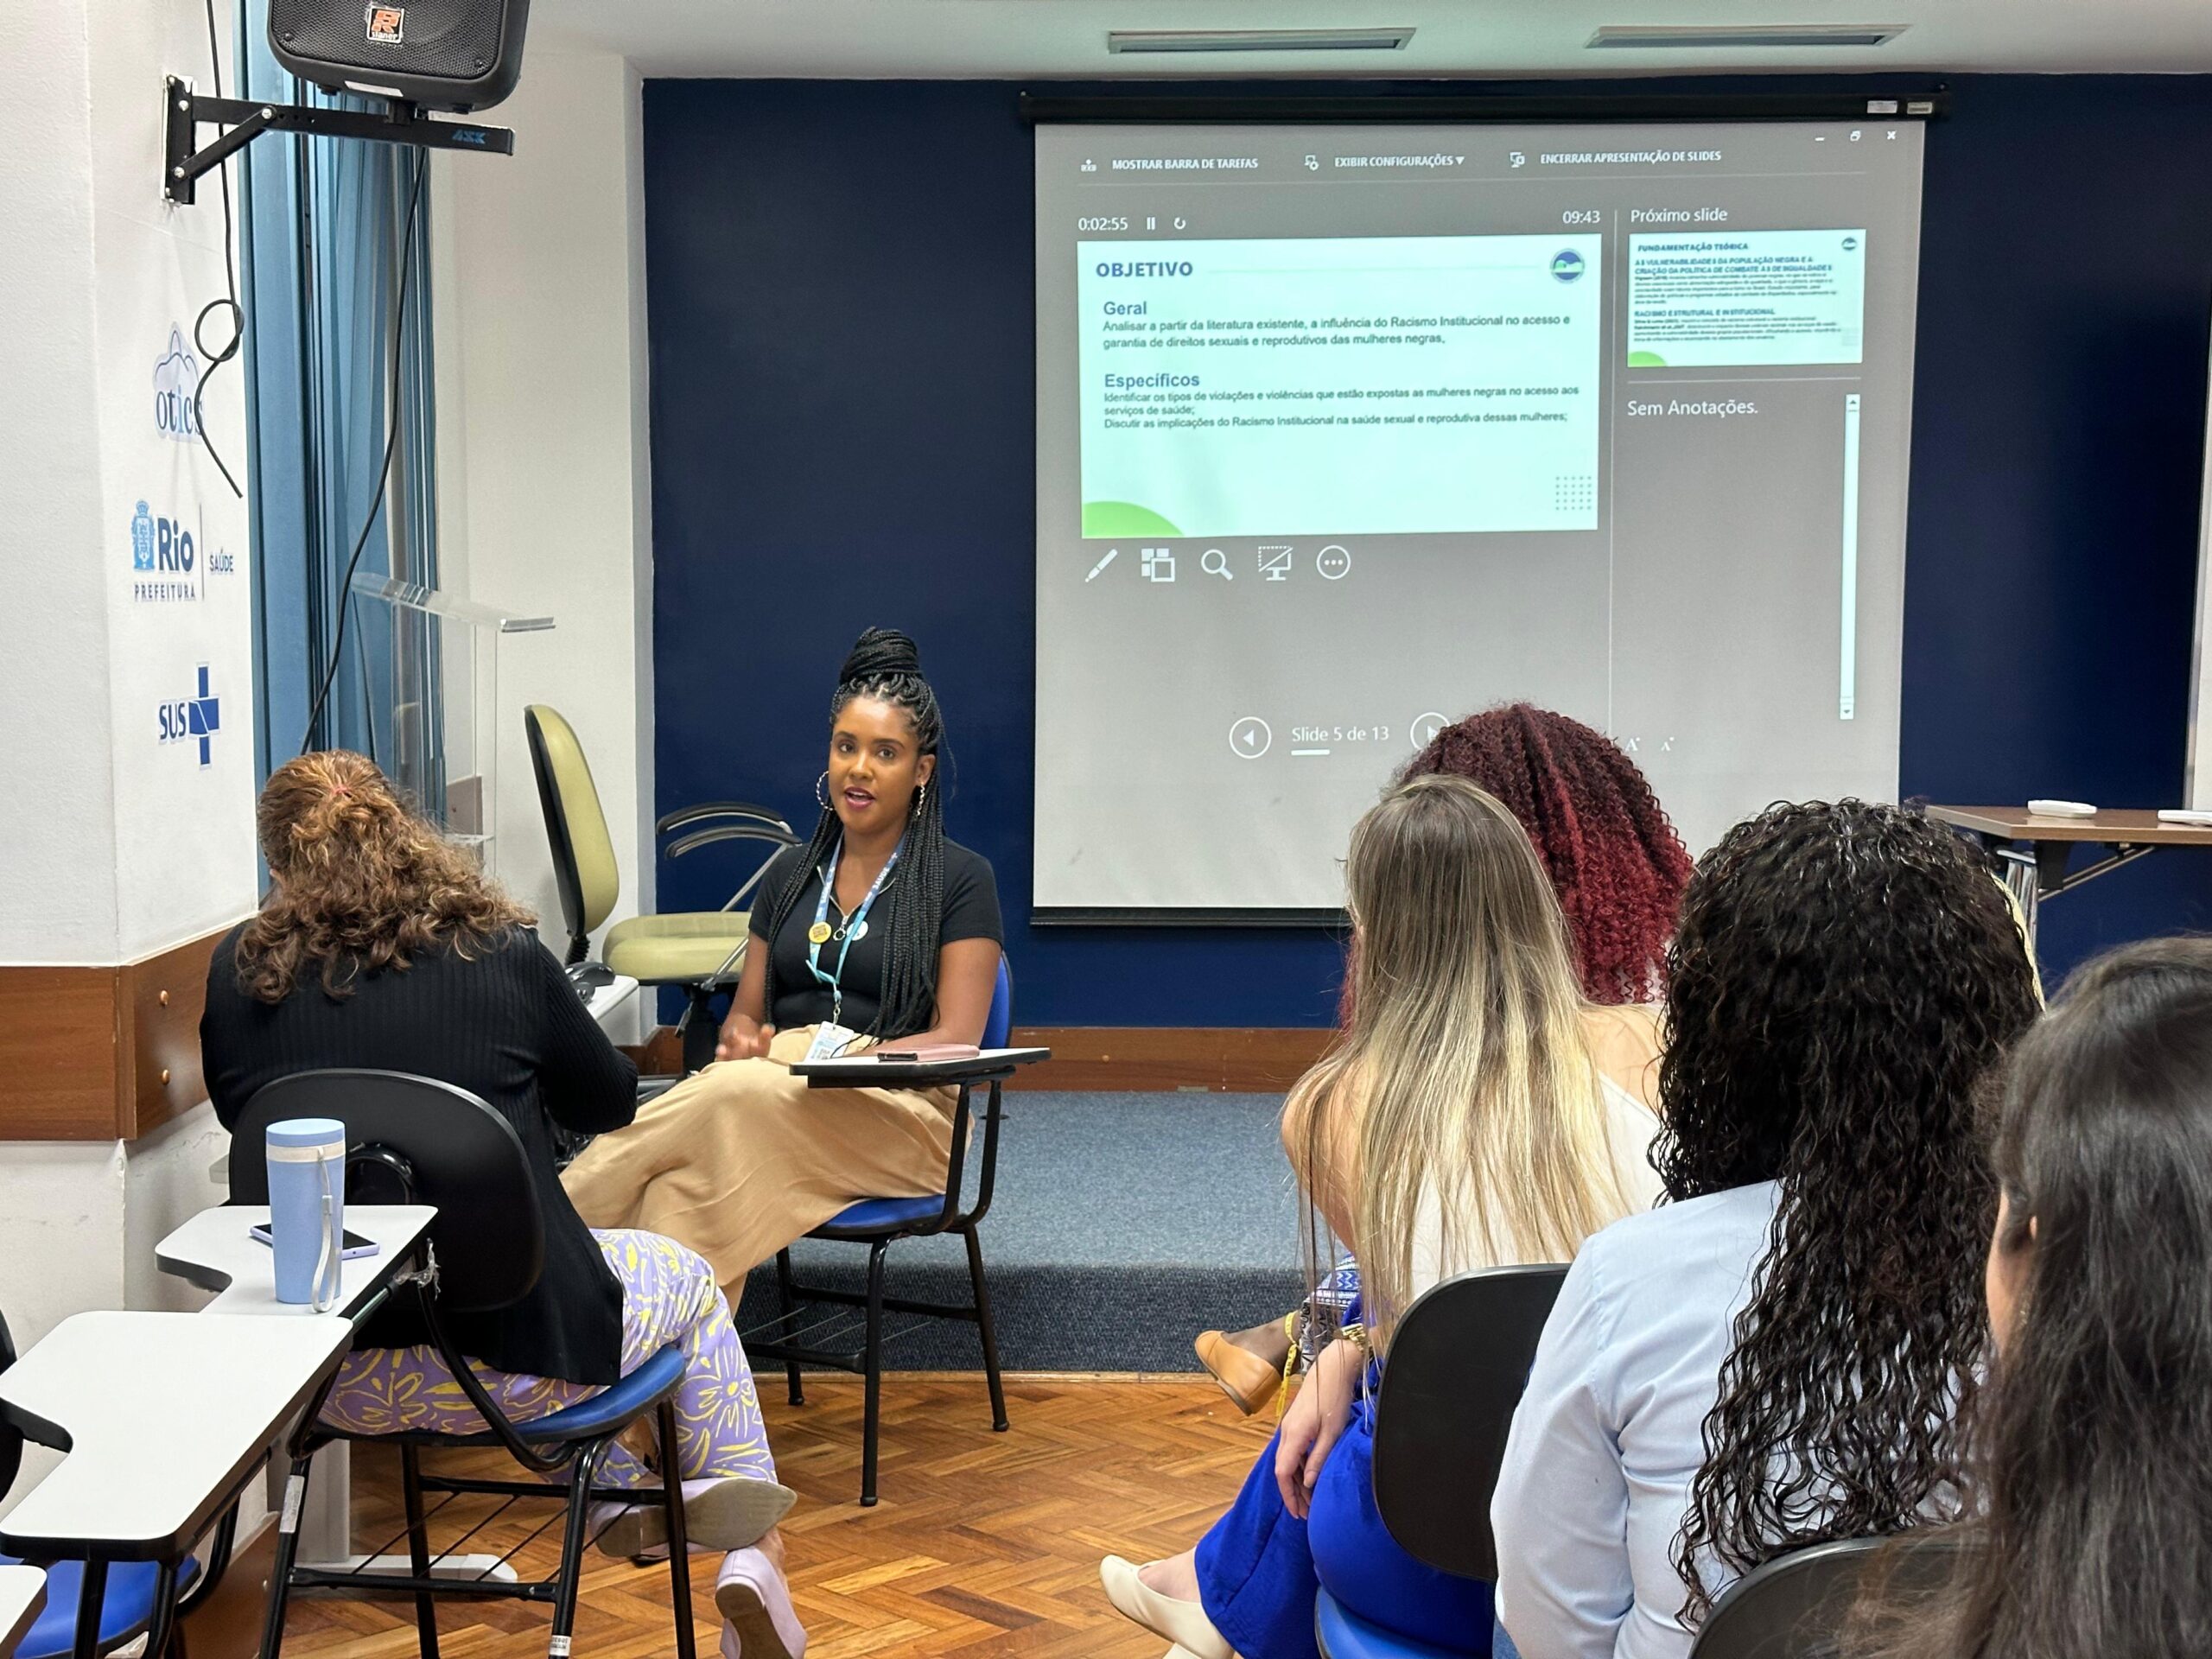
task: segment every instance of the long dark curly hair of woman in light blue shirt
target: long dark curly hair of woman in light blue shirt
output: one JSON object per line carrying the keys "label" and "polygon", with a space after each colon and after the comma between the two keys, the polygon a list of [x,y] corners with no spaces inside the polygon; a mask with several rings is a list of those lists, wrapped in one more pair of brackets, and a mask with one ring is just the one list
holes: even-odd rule
{"label": "long dark curly hair of woman in light blue shirt", "polygon": [[1776,805],[1699,860],[1668,953],[1672,1199],[1776,1181],[1677,1540],[1734,1573],[1955,1500],[1995,1183],[1975,1084],[2035,1018],[2011,907],[1900,807]]}

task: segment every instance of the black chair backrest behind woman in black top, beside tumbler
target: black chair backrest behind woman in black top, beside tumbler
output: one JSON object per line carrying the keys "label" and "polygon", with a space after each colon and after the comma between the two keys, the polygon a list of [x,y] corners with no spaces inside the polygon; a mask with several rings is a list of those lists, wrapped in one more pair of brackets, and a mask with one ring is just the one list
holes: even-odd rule
{"label": "black chair backrest behind woman in black top, beside tumbler", "polygon": [[538,1283],[546,1230],[529,1155],[513,1126],[467,1088],[403,1071],[303,1071],[263,1084],[232,1130],[232,1203],[268,1203],[268,1126],[285,1117],[345,1124],[349,1199],[374,1192],[380,1164],[405,1175],[405,1201],[438,1206],[429,1228],[438,1307],[507,1307]]}

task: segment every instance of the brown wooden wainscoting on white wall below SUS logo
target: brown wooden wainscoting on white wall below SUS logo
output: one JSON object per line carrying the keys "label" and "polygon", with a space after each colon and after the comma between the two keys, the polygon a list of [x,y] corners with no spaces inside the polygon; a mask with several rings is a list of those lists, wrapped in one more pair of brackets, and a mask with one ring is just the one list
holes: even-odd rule
{"label": "brown wooden wainscoting on white wall below SUS logo", "polygon": [[0,967],[0,1141],[128,1141],[204,1102],[199,1013],[228,931],[122,967]]}

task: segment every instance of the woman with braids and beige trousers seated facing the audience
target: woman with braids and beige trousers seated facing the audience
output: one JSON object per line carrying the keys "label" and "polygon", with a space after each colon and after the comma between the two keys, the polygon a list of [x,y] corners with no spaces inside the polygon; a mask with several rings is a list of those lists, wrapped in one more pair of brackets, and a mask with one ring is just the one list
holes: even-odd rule
{"label": "woman with braids and beige trousers seated facing the audience", "polygon": [[714,1064],[562,1175],[597,1228],[650,1228],[723,1285],[860,1199],[945,1190],[951,1088],[807,1088],[792,1062],[978,1042],[998,987],[991,865],[945,838],[945,719],[914,641],[869,628],[830,699],[823,816],[761,876]]}

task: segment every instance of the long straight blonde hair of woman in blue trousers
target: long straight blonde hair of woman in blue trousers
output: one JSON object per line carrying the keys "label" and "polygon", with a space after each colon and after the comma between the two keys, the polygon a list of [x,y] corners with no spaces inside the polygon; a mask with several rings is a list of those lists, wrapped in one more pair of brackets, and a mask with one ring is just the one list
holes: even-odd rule
{"label": "long straight blonde hair of woman in blue trousers", "polygon": [[[1369,1329],[1387,1340],[1411,1303],[1427,1206],[1444,1261],[1482,1241],[1566,1261],[1628,1203],[1566,918],[1504,803],[1458,776],[1411,779],[1360,818],[1345,878],[1352,1024],[1285,1115],[1312,1181],[1358,1113],[1349,1243]],[[1321,1234],[1310,1219],[1316,1276]]]}

